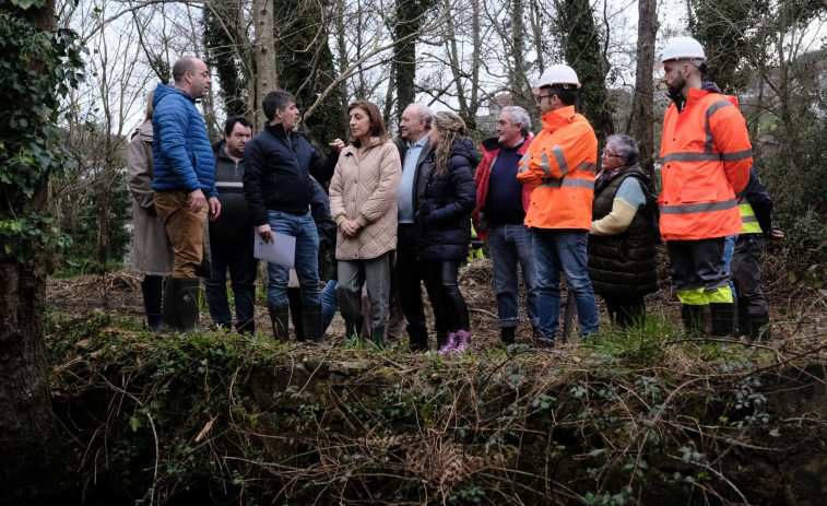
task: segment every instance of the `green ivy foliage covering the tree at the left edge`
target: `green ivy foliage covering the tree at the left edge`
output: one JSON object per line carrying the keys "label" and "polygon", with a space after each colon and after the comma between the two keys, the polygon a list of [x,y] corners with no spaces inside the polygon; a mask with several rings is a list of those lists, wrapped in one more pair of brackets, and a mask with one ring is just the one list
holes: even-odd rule
{"label": "green ivy foliage covering the tree at the left edge", "polygon": [[0,103],[8,105],[0,110],[0,262],[23,263],[70,244],[43,210],[49,175],[73,167],[57,121],[59,97],[83,80],[83,51],[74,32],[38,32],[0,10]]}

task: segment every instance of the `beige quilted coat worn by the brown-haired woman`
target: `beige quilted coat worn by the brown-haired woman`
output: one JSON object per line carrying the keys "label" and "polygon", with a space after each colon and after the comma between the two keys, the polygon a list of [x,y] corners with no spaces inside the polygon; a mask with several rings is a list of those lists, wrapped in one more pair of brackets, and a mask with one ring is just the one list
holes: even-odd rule
{"label": "beige quilted coat worn by the brown-haired woman", "polygon": [[336,231],[336,258],[376,258],[397,249],[397,200],[402,163],[390,140],[371,137],[365,148],[342,150],[330,183],[330,215],[336,225],[356,220],[356,237]]}

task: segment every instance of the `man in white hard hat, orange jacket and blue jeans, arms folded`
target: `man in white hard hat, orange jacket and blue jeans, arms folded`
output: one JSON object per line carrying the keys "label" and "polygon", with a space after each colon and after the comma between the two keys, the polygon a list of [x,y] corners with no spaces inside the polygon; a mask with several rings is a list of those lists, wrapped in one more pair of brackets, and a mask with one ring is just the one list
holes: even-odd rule
{"label": "man in white hard hat, orange jacket and blue jeans, arms folded", "polygon": [[553,345],[560,319],[560,272],[577,304],[580,332],[598,331],[598,306],[586,262],[598,168],[598,138],[575,113],[580,82],[565,64],[540,77],[536,95],[543,130],[520,160],[517,174],[531,188],[525,225],[532,231],[541,340]]}

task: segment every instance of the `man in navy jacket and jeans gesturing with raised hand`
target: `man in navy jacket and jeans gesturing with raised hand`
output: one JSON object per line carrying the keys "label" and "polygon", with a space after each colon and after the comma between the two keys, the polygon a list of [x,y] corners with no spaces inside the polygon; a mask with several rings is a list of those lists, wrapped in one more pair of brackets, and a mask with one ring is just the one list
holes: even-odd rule
{"label": "man in navy jacket and jeans gesturing with raised hand", "polygon": [[[324,343],[319,295],[319,235],[310,213],[310,175],[320,181],[333,176],[344,142],[336,139],[327,158],[294,131],[298,123],[296,99],[287,92],[271,92],[262,103],[269,123],[244,152],[244,192],[258,234],[268,243],[273,232],[296,238],[295,268],[302,287],[305,338]],[[288,269],[268,263],[267,302],[273,337],[287,341]]]}

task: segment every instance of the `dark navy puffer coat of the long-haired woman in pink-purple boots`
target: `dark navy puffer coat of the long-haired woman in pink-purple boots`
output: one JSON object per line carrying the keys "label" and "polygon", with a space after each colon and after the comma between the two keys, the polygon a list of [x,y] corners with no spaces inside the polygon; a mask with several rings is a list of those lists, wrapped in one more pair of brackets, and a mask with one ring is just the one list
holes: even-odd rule
{"label": "dark navy puffer coat of the long-haired woman in pink-purple boots", "polygon": [[[435,151],[435,150],[434,150]],[[434,174],[434,151],[422,164],[417,195],[416,232],[423,261],[462,261],[471,243],[471,211],[476,205],[473,169],[479,163],[474,144],[464,139],[451,149],[448,177]]]}

